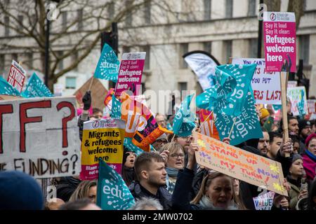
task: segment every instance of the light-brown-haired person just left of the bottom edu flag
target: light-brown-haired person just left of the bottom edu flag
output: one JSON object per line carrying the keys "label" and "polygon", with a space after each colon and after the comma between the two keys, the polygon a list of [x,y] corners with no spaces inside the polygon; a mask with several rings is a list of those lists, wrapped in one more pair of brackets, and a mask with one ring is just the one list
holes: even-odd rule
{"label": "light-brown-haired person just left of the bottom edu flag", "polygon": [[96,190],[96,181],[81,181],[77,189],[72,193],[69,201],[74,202],[75,200],[88,198],[92,203],[96,203]]}

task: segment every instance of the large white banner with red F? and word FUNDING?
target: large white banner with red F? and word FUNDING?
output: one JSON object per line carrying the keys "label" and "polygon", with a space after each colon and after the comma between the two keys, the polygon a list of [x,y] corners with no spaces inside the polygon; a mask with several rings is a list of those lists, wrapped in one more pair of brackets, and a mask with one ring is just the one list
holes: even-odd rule
{"label": "large white banner with red F? and word FUNDING?", "polygon": [[80,172],[80,140],[74,97],[0,102],[0,170],[35,178]]}

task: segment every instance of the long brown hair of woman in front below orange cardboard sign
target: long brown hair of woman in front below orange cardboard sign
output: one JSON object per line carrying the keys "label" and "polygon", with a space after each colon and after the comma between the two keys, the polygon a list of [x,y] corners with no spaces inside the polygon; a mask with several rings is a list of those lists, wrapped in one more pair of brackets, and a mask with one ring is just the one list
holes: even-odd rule
{"label": "long brown hair of woman in front below orange cardboard sign", "polygon": [[[191,204],[199,204],[199,201],[206,194],[206,189],[209,188],[209,186],[211,186],[213,179],[216,179],[217,177],[220,177],[220,176],[227,176],[227,175],[222,174],[220,172],[212,172],[206,175],[201,183],[201,187],[199,188],[199,192],[197,193],[197,196],[195,196],[195,198],[191,201]],[[235,194],[234,182],[233,182],[234,179],[232,179],[232,177],[230,176],[227,176],[227,177],[230,179],[230,183],[232,186],[232,200],[234,200],[238,209],[240,210],[246,209],[246,207],[244,206],[244,203],[242,202],[242,199]]]}

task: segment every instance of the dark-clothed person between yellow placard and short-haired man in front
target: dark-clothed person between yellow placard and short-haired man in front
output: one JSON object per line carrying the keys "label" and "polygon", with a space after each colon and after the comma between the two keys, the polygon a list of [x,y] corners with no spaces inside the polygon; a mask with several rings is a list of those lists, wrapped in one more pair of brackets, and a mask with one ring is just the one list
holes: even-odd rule
{"label": "dark-clothed person between yellow placard and short-haired man in front", "polygon": [[130,186],[133,181],[135,181],[135,170],[134,163],[136,160],[136,153],[124,147],[123,154],[123,169],[121,170],[121,176],[126,183],[126,186]]}

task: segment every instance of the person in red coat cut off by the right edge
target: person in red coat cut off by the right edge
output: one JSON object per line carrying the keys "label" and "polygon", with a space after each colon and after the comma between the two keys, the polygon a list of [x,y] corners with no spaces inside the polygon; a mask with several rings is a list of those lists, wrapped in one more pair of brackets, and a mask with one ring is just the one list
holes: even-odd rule
{"label": "person in red coat cut off by the right edge", "polygon": [[308,182],[315,178],[316,169],[316,134],[310,134],[305,140],[307,150],[303,155],[303,167],[306,172]]}

